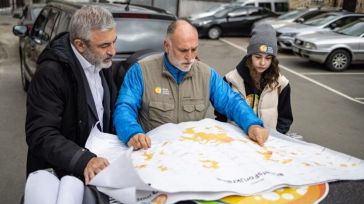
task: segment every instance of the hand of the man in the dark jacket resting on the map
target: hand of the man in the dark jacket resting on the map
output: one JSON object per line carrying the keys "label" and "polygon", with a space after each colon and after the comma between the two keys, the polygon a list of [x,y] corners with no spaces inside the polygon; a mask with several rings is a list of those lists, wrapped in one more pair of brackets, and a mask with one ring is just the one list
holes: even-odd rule
{"label": "hand of the man in the dark jacket resting on the map", "polygon": [[85,177],[85,183],[89,184],[91,179],[96,176],[100,171],[109,165],[109,161],[102,157],[92,158],[83,170],[83,176]]}

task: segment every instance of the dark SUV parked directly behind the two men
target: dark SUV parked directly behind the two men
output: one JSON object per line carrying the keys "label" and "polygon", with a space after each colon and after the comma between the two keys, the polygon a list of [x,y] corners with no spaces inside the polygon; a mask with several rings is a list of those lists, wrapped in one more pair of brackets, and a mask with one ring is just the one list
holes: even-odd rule
{"label": "dark SUV parked directly behind the two men", "polygon": [[[25,26],[14,26],[13,33],[24,37],[24,48],[20,52],[24,90],[28,89],[29,82],[37,69],[38,56],[48,42],[57,34],[67,31],[73,13],[88,4],[96,3],[54,1],[43,8],[30,33]],[[176,17],[163,9],[149,6],[107,3],[97,5],[107,8],[116,22],[116,56],[111,68],[115,82],[120,86],[130,63],[146,53],[162,51],[167,27]]]}

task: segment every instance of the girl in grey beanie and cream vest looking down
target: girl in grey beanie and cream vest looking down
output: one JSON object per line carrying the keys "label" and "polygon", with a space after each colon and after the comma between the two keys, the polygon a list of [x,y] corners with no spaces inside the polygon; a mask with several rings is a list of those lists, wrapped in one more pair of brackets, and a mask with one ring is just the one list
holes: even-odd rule
{"label": "girl in grey beanie and cream vest looking down", "polygon": [[[257,25],[247,55],[224,79],[242,95],[266,127],[286,134],[293,122],[291,88],[288,79],[279,72],[277,49],[273,27]],[[216,111],[215,115],[217,120],[227,121]]]}

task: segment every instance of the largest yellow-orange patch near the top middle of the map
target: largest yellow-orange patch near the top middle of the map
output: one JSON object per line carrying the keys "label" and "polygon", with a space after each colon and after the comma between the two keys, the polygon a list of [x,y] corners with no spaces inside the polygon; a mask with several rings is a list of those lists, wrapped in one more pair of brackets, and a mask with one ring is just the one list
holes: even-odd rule
{"label": "largest yellow-orange patch near the top middle of the map", "polygon": [[233,139],[226,135],[226,133],[204,133],[195,132],[193,128],[187,128],[184,134],[191,134],[191,136],[182,136],[181,140],[191,140],[198,143],[206,144],[208,142],[214,142],[219,144],[231,143]]}

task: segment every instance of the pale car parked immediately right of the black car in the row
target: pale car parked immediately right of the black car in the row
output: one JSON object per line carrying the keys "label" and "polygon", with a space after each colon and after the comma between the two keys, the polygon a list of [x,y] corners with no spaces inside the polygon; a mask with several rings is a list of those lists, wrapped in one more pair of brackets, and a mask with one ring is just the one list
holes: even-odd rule
{"label": "pale car parked immediately right of the black car in the row", "polygon": [[257,21],[255,25],[260,23],[267,23],[272,25],[274,29],[278,29],[282,26],[292,23],[303,23],[313,17],[320,14],[332,12],[334,9],[329,8],[299,8],[297,10],[290,11],[278,17],[265,18]]}

